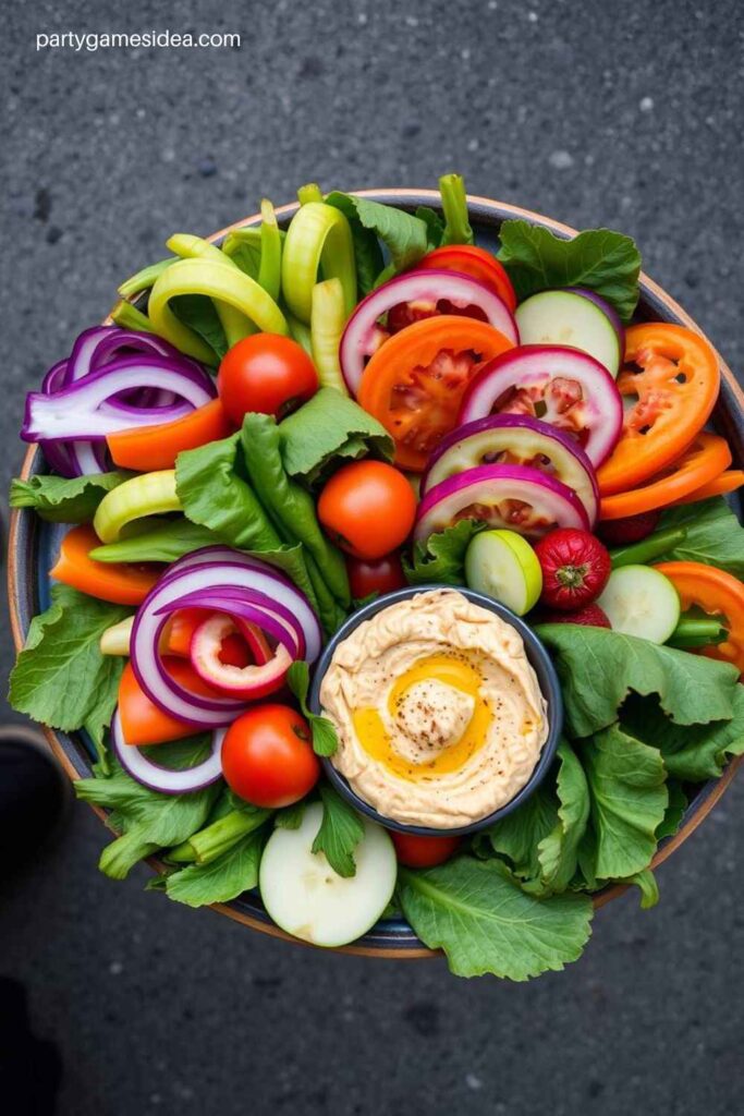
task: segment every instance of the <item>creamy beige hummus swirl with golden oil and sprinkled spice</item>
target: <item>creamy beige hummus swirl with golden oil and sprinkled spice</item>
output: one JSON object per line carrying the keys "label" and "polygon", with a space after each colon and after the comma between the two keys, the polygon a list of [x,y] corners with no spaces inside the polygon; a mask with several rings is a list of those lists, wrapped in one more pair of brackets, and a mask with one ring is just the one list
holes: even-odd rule
{"label": "creamy beige hummus swirl with golden oil and sprinkled spice", "polygon": [[384,817],[453,829],[529,781],[548,737],[522,637],[454,589],[381,609],[344,639],[320,687],[332,763]]}

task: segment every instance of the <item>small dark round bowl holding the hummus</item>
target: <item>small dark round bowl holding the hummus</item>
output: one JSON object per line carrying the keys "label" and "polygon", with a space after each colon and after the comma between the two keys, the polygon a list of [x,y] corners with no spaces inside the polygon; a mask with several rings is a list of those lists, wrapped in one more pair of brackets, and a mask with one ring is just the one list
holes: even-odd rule
{"label": "small dark round bowl holding the hummus", "polygon": [[[396,589],[395,593],[386,593],[385,596],[378,597],[377,600],[370,602],[368,605],[365,605],[364,608],[359,608],[358,612],[349,616],[346,624],[341,625],[334,638],[327,644],[315,667],[308,702],[312,712],[322,713],[320,687],[322,685],[322,680],[326,676],[326,672],[330,666],[336,648],[339,644],[344,643],[344,641],[350,636],[360,624],[364,624],[365,620],[371,619],[371,617],[376,616],[377,613],[381,613],[384,608],[396,604],[398,600],[410,600],[412,597],[417,596],[419,593],[426,593],[431,589],[451,588],[452,586],[447,585],[417,585],[416,587],[409,589]],[[336,770],[331,759],[323,759],[322,764],[330,782],[334,787],[336,787],[339,795],[346,798],[346,800],[359,810],[360,814],[366,814],[368,818],[373,819],[373,821],[379,822],[379,825],[385,826],[387,829],[397,829],[398,833],[404,834],[417,834],[421,837],[435,837],[443,835],[446,835],[447,837],[461,837],[465,834],[476,833],[479,829],[486,829],[489,826],[495,825],[500,818],[505,818],[508,814],[511,814],[518,806],[521,806],[522,802],[524,802],[530,795],[537,790],[544,779],[548,773],[548,769],[552,763],[553,756],[555,754],[558,741],[563,728],[563,699],[561,695],[560,682],[558,681],[558,674],[555,673],[555,667],[550,661],[548,652],[541,644],[540,639],[538,639],[534,632],[528,627],[524,620],[520,619],[515,613],[512,613],[511,609],[506,608],[497,600],[493,600],[491,597],[485,597],[482,593],[474,593],[473,589],[464,589],[460,586],[457,587],[457,591],[462,593],[462,595],[467,597],[468,600],[472,600],[474,605],[480,605],[482,608],[486,608],[490,613],[494,613],[499,616],[500,619],[511,624],[511,626],[521,635],[526,657],[534,670],[540,685],[540,691],[548,703],[548,739],[542,747],[540,759],[538,760],[534,771],[530,776],[529,780],[522,789],[505,804],[505,806],[502,806],[499,810],[494,810],[493,814],[486,814],[485,817],[480,818],[477,821],[472,821],[467,826],[460,826],[454,829],[432,829],[427,826],[403,825],[400,821],[395,821],[393,818],[385,817],[379,814],[374,806],[370,806],[369,802],[365,801],[364,798],[360,798],[359,795],[356,793],[356,791],[349,786],[348,780],[340,773],[340,771]]]}

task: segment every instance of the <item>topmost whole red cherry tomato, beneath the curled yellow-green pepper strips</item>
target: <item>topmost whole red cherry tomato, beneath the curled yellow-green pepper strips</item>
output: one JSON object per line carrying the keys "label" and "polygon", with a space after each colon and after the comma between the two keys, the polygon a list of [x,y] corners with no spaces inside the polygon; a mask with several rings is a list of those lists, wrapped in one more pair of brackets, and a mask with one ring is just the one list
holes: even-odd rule
{"label": "topmost whole red cherry tomato, beneath the curled yellow-green pepper strips", "polygon": [[249,411],[277,421],[318,391],[318,373],[301,345],[279,334],[244,337],[224,355],[218,374],[222,406],[240,426]]}

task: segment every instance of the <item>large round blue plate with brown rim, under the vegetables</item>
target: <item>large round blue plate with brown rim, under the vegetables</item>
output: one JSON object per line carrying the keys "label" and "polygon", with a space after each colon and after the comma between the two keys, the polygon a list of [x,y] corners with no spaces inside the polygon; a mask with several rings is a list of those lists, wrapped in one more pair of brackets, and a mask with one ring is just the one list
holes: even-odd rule
{"label": "large round blue plate with brown rim, under the vegetables", "polygon": [[[365,198],[384,202],[389,205],[397,205],[400,209],[415,211],[418,205],[429,205],[441,211],[439,195],[434,190],[361,190]],[[487,198],[468,196],[471,224],[475,232],[477,243],[484,248],[495,250],[499,244],[499,229],[502,221],[519,218],[530,221],[532,224],[550,229],[558,237],[569,239],[576,235],[576,230],[568,225],[560,224],[550,218],[532,213],[530,210],[520,209],[516,205],[506,205],[503,202],[491,201]],[[294,202],[278,210],[278,217],[286,227],[292,214],[297,211],[298,204]],[[228,229],[222,229],[210,239],[220,243],[222,239],[233,229],[243,229],[261,223],[261,214],[238,221]],[[167,230],[165,230],[167,232]],[[666,291],[661,290],[657,283],[647,276],[640,277],[640,301],[636,312],[636,320],[673,321],[678,325],[688,326],[690,329],[703,333],[693,319],[674,301]],[[81,321],[80,328],[89,323]],[[744,393],[737,385],[733,373],[721,360],[721,396],[713,414],[713,425],[724,434],[731,444],[734,455],[734,466],[744,466]],[[40,373],[41,374],[41,369]],[[46,472],[46,463],[41,451],[31,448],[28,450],[21,469],[21,475],[26,479],[35,473]],[[738,511],[741,516],[741,504]],[[10,622],[16,647],[22,647],[32,617],[46,608],[49,604],[49,569],[54,565],[54,557],[59,546],[59,539],[64,535],[65,528],[59,526],[42,523],[29,510],[13,511],[10,526],[9,557],[8,557],[8,588],[10,596]],[[62,763],[70,779],[80,779],[90,773],[93,763],[93,750],[89,741],[83,733],[65,733],[50,729],[45,730],[49,743]],[[654,858],[654,866],[666,860],[679,846],[689,837],[694,829],[711,812],[721,796],[725,792],[736,771],[738,760],[732,760],[721,779],[712,780],[696,788],[694,797],[685,811],[685,817],[677,834],[663,841]],[[95,809],[95,807],[94,807]],[[97,810],[102,821],[105,815]],[[153,866],[157,865],[153,862]],[[93,868],[91,868],[93,870]],[[621,895],[626,888],[624,886],[608,887],[595,896],[595,905],[603,906],[610,899]],[[294,942],[283,931],[276,926],[268,916],[261,899],[257,893],[249,892],[241,895],[232,903],[219,904],[215,910],[221,914],[235,918],[238,922],[250,926],[252,930],[274,937],[282,937]],[[365,934],[363,939],[352,945],[345,947],[344,952],[364,954],[379,958],[425,958],[431,956],[432,951],[427,950],[416,937],[410,926],[400,918],[386,918]]]}

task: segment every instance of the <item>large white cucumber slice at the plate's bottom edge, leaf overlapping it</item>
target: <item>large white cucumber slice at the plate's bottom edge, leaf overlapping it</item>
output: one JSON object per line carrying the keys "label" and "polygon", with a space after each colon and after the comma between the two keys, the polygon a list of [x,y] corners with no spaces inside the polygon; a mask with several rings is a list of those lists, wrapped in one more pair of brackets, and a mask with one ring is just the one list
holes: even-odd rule
{"label": "large white cucumber slice at the plate's bottom edge, leaf overlapping it", "polygon": [[397,862],[393,841],[364,818],[365,836],[354,858],[356,875],[344,878],[312,843],[322,821],[322,806],[305,810],[298,829],[274,829],[259,872],[261,898],[283,931],[312,945],[354,942],[374,926],[393,897]]}

